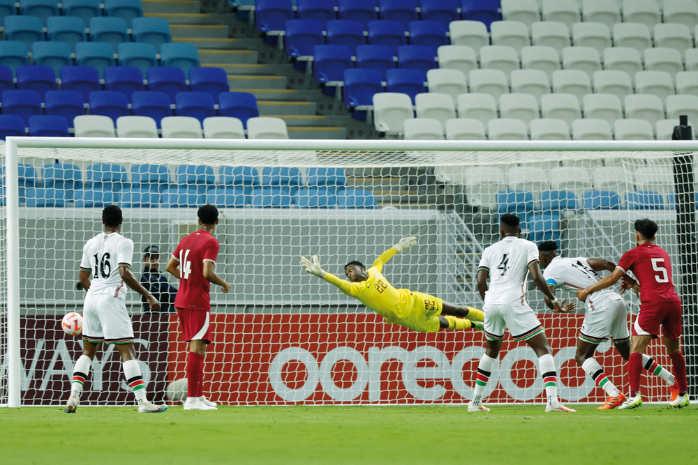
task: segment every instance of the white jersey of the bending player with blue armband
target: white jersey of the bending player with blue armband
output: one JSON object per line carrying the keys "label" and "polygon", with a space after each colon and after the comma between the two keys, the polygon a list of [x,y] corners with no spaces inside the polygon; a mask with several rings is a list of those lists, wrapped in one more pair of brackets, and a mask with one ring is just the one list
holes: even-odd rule
{"label": "white jersey of the bending player with blue armband", "polygon": [[[601,280],[598,273],[589,265],[589,259],[584,257],[575,259],[555,257],[545,268],[543,277],[549,286],[574,293]],[[594,310],[595,307],[605,305],[611,300],[623,300],[623,298],[612,287],[608,287],[588,296],[586,308]]]}

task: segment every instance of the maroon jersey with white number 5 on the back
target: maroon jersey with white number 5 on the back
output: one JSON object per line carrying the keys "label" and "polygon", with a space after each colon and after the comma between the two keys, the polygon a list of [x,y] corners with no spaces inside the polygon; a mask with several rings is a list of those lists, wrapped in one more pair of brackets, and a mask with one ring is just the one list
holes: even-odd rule
{"label": "maroon jersey with white number 5 on the back", "polygon": [[640,283],[640,302],[643,305],[660,305],[672,301],[681,302],[674,290],[671,278],[671,259],[659,245],[644,243],[628,250],[621,257],[618,268],[637,277]]}

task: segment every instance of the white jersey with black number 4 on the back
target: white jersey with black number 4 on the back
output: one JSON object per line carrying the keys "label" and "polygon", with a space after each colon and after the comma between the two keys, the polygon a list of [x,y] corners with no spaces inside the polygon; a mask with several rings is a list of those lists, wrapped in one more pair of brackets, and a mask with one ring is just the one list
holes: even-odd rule
{"label": "white jersey with black number 4 on the back", "polygon": [[484,303],[526,305],[526,277],[534,263],[538,263],[538,247],[526,239],[508,236],[487,247],[477,268],[489,272]]}

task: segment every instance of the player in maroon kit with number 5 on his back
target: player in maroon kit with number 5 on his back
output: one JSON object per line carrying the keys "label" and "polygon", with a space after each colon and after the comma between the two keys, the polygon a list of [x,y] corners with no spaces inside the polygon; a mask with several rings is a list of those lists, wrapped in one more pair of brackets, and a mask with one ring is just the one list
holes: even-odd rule
{"label": "player in maroon kit with number 5 on his back", "polygon": [[[586,300],[589,294],[611,287],[623,278],[621,289],[633,289],[640,297],[640,313],[632,326],[632,346],[628,359],[630,397],[618,409],[635,409],[642,405],[640,396],[640,372],[642,354],[648,344],[659,336],[659,327],[664,328],[664,346],[674,364],[676,385],[671,388],[671,406],[681,409],[690,404],[686,380],[686,361],[681,353],[681,298],[674,291],[671,279],[671,259],[667,251],[655,245],[657,224],[651,220],[635,222],[637,247],[623,254],[616,270],[611,275],[586,289],[577,291],[579,300]],[[639,280],[625,276],[632,273]]]}

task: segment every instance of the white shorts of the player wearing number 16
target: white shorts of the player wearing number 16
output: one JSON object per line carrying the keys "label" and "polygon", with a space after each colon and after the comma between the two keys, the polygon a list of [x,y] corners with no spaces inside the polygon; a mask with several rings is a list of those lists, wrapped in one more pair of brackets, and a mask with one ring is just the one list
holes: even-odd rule
{"label": "white shorts of the player wearing number 16", "polygon": [[110,294],[89,294],[82,312],[82,340],[98,344],[130,344],[133,325],[126,303]]}

